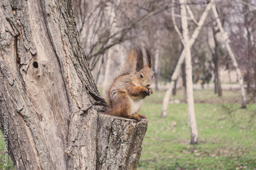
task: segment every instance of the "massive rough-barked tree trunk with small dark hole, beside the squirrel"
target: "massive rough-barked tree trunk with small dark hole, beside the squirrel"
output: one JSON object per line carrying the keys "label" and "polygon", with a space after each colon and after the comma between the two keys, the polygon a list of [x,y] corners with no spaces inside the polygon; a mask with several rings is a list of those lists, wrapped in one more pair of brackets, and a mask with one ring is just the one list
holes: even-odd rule
{"label": "massive rough-barked tree trunk with small dark hole, beside the squirrel", "polygon": [[[71,1],[4,0],[0,16],[1,130],[8,121],[8,153],[16,169],[100,169],[99,146],[110,142],[101,140],[106,104],[81,48]],[[134,153],[134,159],[121,154],[126,162],[116,165],[133,169],[147,124],[113,119],[120,122],[119,133],[133,139],[127,150]],[[117,144],[125,147],[126,138]]]}

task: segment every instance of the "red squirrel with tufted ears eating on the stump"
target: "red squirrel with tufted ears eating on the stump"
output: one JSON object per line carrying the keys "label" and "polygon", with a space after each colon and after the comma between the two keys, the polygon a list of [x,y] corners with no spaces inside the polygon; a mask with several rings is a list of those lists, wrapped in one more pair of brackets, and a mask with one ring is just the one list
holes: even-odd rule
{"label": "red squirrel with tufted ears eating on the stump", "polygon": [[[111,81],[105,85],[103,98],[108,103],[107,114],[141,120],[146,118],[140,111],[143,99],[153,94],[151,80],[151,54],[147,47],[146,65],[143,64],[143,53],[140,47],[130,51],[125,64],[115,73]],[[147,119],[147,118],[146,118]]]}

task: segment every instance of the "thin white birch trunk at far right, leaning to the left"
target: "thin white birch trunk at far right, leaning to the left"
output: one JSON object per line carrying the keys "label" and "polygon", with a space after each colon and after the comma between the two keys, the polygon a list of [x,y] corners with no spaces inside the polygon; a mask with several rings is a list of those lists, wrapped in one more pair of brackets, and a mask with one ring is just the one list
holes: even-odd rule
{"label": "thin white birch trunk at far right, leaning to the left", "polygon": [[242,96],[242,108],[246,108],[246,94],[245,94],[245,90],[244,90],[244,86],[243,86],[243,78],[242,78],[242,74],[241,74],[241,71],[238,67],[238,63],[237,63],[237,60],[236,58],[234,57],[234,54],[231,50],[231,47],[229,45],[229,38],[228,38],[228,35],[227,33],[224,31],[222,25],[221,25],[221,21],[220,19],[218,18],[218,13],[217,13],[217,10],[216,10],[216,5],[212,5],[211,7],[212,9],[212,12],[214,13],[214,16],[215,16],[215,19],[216,19],[216,22],[217,22],[217,26],[218,28],[220,29],[220,32],[222,34],[222,38],[223,38],[223,41],[225,42],[225,45],[226,45],[226,48],[227,48],[227,51],[228,51],[228,54],[232,60],[232,63],[233,63],[233,66],[234,68],[236,68],[236,72],[237,72],[237,75],[238,75],[238,81],[239,81],[239,84],[240,84],[240,88],[241,88],[241,96]]}

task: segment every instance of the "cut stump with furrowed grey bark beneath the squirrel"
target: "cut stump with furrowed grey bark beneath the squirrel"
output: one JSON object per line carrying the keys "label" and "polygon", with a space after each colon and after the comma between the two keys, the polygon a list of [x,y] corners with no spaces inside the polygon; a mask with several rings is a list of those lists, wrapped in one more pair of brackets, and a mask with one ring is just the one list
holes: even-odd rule
{"label": "cut stump with furrowed grey bark beneath the squirrel", "polygon": [[137,169],[147,120],[99,114],[97,169]]}

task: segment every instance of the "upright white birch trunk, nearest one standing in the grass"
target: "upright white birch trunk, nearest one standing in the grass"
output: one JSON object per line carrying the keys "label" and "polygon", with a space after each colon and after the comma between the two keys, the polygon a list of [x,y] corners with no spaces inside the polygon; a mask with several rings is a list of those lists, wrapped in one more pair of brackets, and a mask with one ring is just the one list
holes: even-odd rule
{"label": "upright white birch trunk, nearest one standing in the grass", "polygon": [[195,107],[194,107],[191,51],[190,51],[185,3],[186,3],[186,0],[180,0],[181,25],[183,30],[185,64],[186,64],[186,86],[187,86],[187,105],[188,105],[187,110],[188,110],[190,133],[191,133],[190,143],[195,144],[195,143],[198,143],[198,130],[197,130],[196,115],[195,115]]}

